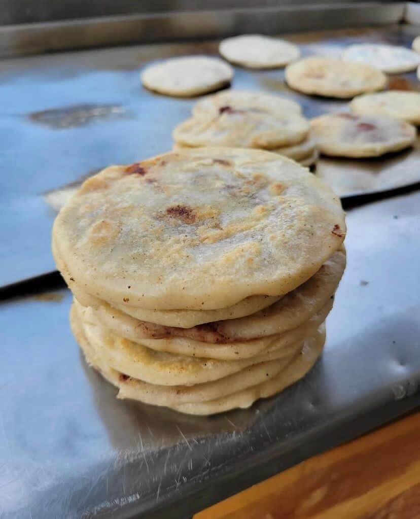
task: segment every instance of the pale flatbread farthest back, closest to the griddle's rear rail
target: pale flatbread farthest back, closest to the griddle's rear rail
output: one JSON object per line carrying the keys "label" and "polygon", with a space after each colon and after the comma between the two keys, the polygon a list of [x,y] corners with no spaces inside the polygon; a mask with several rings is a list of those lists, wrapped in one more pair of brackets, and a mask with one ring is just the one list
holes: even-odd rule
{"label": "pale flatbread farthest back, closest to the griddle's rear rail", "polygon": [[250,69],[275,69],[300,56],[296,45],[259,34],[226,38],[220,43],[219,52],[226,60]]}

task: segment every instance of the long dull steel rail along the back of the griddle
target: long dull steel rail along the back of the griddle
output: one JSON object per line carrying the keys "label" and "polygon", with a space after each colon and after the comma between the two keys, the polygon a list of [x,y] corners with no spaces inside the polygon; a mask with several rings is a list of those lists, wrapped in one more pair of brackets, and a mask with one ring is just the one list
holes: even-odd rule
{"label": "long dull steel rail along the back of the griddle", "polygon": [[[66,4],[48,2],[48,5]],[[0,26],[0,56],[174,39],[218,38],[238,33],[279,34],[384,25],[401,21],[405,8],[404,2],[334,1],[304,5],[299,2],[297,6],[292,2],[276,3],[276,6],[272,4],[268,2],[268,6],[216,10],[140,12],[112,17],[5,25]],[[86,6],[89,5],[86,3]],[[114,5],[118,4],[114,2]]]}

